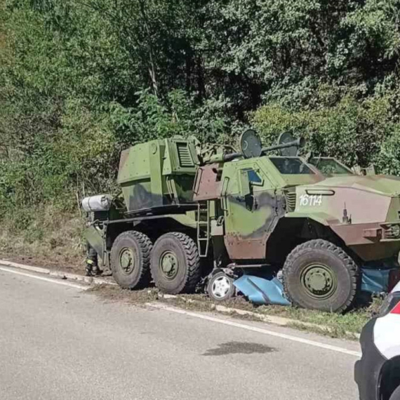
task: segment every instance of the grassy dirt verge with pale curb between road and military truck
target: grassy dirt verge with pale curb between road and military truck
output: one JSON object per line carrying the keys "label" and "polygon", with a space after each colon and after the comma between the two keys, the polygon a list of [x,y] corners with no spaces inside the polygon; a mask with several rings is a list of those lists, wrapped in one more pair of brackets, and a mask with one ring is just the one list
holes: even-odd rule
{"label": "grassy dirt verge with pale curb between road and military truck", "polygon": [[[18,264],[30,265],[32,267],[46,267],[52,271],[60,271],[69,274],[84,275],[85,270],[84,260],[76,260],[76,262],[67,263],[65,260],[58,260],[57,257],[49,259],[47,257],[10,255],[0,255],[0,259],[17,262]],[[105,275],[112,281],[109,272],[105,273]],[[332,338],[347,338],[351,340],[358,340],[361,328],[371,319],[382,302],[381,299],[375,298],[373,302],[366,307],[357,307],[346,314],[335,314],[296,307],[282,307],[276,305],[256,306],[241,296],[234,300],[220,302],[218,305],[215,305],[214,302],[204,294],[179,295],[178,297],[166,299],[163,298],[161,293],[154,287],[145,289],[144,291],[126,291],[118,286],[95,285],[91,290],[99,297],[112,301],[118,300],[140,303],[156,300],[167,302],[171,305],[182,307],[183,309],[207,312],[218,311],[239,319],[253,319],[259,321],[268,321],[268,318],[273,316],[278,319],[290,320],[283,321],[282,324],[293,326],[293,328],[302,331],[328,335]]]}

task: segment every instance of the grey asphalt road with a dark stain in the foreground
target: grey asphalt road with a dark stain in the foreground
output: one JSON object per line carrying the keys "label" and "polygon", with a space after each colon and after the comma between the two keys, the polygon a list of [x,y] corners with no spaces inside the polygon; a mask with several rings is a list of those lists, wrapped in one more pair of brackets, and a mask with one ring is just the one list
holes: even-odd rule
{"label": "grey asphalt road with a dark stain in the foreground", "polygon": [[0,399],[358,398],[357,356],[293,337],[359,352],[355,342],[212,317],[0,270]]}

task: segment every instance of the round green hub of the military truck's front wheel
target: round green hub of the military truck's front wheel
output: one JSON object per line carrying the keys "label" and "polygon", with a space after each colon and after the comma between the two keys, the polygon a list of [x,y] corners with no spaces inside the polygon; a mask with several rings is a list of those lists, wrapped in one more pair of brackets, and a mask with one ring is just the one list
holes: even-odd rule
{"label": "round green hub of the military truck's front wheel", "polygon": [[331,268],[323,264],[308,265],[301,274],[301,283],[307,295],[319,300],[330,298],[338,286]]}

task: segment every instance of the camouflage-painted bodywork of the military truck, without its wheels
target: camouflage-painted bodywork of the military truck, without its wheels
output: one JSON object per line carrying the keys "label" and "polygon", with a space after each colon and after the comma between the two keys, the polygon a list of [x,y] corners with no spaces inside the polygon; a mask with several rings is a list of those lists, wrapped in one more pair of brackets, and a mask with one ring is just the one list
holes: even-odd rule
{"label": "camouflage-painted bodywork of the military truck, without its wheels", "polygon": [[[279,222],[292,218],[325,227],[365,261],[400,251],[400,178],[349,171],[329,177],[317,168],[318,159],[316,166],[297,157],[223,162],[224,154],[211,154],[208,159],[201,164],[195,143],[182,138],[152,140],[124,150],[118,174],[126,206],[123,218],[157,210],[196,229],[204,213],[196,216],[179,206],[201,203],[204,209],[204,204],[212,204],[211,233],[220,239],[223,234],[229,258],[244,262],[265,260]],[[280,171],[277,164],[291,159],[301,164],[298,173]],[[165,206],[178,208],[173,214],[165,208],[163,214]],[[94,233],[88,235],[97,246]],[[290,229],[284,233],[288,239],[293,235]]]}

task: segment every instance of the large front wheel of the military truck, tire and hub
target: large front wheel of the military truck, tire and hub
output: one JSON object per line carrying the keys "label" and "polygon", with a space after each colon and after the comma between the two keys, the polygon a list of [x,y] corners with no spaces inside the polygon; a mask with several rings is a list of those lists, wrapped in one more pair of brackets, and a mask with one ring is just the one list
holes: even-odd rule
{"label": "large front wheel of the military truck, tire and hub", "polygon": [[286,258],[284,288],[293,305],[328,312],[345,312],[356,296],[359,269],[335,244],[310,240]]}

